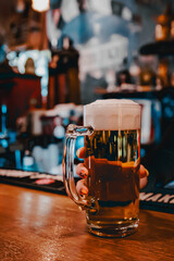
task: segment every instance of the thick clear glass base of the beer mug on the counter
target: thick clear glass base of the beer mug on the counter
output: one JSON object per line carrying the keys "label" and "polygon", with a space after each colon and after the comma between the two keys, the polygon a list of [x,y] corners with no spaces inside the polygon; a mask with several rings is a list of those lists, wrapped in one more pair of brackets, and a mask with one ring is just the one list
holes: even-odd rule
{"label": "thick clear glass base of the beer mug on the counter", "polygon": [[134,234],[138,229],[139,220],[124,226],[119,225],[88,225],[88,231],[99,237],[126,237]]}

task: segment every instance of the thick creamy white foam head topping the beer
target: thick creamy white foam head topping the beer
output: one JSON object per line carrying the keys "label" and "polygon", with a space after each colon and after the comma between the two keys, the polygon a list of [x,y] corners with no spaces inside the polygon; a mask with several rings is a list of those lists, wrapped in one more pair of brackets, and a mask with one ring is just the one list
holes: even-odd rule
{"label": "thick creamy white foam head topping the beer", "polygon": [[97,130],[140,128],[140,105],[126,99],[96,100],[84,107],[84,125]]}

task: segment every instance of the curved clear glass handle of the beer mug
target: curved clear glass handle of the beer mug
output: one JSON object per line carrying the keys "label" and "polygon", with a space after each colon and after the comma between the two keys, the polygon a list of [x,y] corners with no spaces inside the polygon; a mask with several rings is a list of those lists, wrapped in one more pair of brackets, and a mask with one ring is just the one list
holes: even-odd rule
{"label": "curved clear glass handle of the beer mug", "polygon": [[74,124],[67,126],[63,157],[63,181],[67,195],[76,204],[78,204],[82,209],[88,209],[92,212],[97,212],[97,201],[91,197],[83,199],[76,190],[74,181],[74,152],[76,138],[78,136],[90,136],[92,133],[94,128],[91,126],[76,126]]}

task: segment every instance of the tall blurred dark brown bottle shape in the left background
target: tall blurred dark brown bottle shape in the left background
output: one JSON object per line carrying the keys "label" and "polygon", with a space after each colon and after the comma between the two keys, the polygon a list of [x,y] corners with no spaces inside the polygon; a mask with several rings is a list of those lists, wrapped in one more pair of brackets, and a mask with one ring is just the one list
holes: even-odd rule
{"label": "tall blurred dark brown bottle shape in the left background", "polygon": [[62,38],[61,49],[58,50],[54,57],[57,58],[55,62],[53,67],[50,67],[50,108],[58,103],[73,102],[80,104],[79,53],[67,36]]}

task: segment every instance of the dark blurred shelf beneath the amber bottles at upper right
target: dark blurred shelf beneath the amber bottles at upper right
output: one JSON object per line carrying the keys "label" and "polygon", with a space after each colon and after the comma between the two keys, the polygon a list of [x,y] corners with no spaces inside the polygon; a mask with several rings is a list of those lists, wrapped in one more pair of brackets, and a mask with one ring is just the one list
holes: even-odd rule
{"label": "dark blurred shelf beneath the amber bottles at upper right", "polygon": [[174,40],[147,44],[139,49],[139,53],[144,55],[174,55]]}

